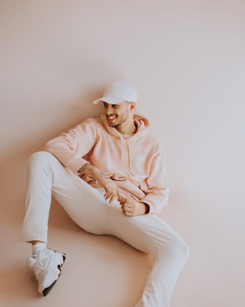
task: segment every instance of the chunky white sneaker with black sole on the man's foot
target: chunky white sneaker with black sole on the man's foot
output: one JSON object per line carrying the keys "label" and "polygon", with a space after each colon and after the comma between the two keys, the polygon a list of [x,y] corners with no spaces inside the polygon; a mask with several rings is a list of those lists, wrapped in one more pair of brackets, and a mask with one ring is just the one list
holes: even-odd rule
{"label": "chunky white sneaker with black sole on the man's foot", "polygon": [[61,267],[65,262],[64,252],[45,249],[26,261],[28,269],[31,269],[38,281],[38,291],[46,296],[58,280]]}

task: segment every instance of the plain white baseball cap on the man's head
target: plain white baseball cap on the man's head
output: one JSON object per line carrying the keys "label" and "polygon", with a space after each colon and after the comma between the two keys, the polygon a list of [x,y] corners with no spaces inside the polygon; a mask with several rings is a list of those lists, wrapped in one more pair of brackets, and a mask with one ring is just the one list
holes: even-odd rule
{"label": "plain white baseball cap on the man's head", "polygon": [[93,103],[98,104],[100,101],[105,101],[109,104],[116,105],[122,101],[137,102],[136,89],[126,83],[124,80],[113,82],[106,86],[103,97],[96,99]]}

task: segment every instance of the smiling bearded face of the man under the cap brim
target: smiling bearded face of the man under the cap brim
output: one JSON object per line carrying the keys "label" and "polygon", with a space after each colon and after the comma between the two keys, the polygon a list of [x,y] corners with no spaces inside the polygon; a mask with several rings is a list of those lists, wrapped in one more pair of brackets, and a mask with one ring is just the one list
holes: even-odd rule
{"label": "smiling bearded face of the man under the cap brim", "polygon": [[[121,126],[127,119],[129,120],[130,103],[122,101],[119,104],[111,105],[103,101],[104,114],[107,122],[111,127],[117,128]],[[114,116],[116,115],[116,117]],[[115,117],[110,119],[110,117]]]}

